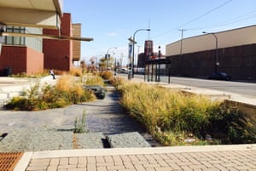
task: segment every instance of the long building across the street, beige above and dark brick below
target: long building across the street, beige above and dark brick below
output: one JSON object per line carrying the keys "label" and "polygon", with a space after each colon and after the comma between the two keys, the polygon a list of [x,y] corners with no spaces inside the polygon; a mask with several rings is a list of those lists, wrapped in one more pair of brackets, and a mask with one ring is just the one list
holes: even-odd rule
{"label": "long building across the street, beige above and dark brick below", "polygon": [[256,80],[256,26],[184,38],[182,43],[182,49],[181,40],[166,45],[172,75],[205,77],[223,71],[234,79]]}

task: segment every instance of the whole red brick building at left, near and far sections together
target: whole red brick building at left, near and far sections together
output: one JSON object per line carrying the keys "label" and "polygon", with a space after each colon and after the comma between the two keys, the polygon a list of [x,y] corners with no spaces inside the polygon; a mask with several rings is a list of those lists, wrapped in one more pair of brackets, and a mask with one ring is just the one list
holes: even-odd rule
{"label": "whole red brick building at left, near and far sections together", "polygon": [[[63,14],[60,30],[7,26],[7,31],[72,37],[73,25],[71,14]],[[77,43],[75,45],[80,46]],[[75,49],[80,51],[80,47]],[[78,54],[76,53],[76,55]],[[75,57],[76,61],[79,59],[80,57]],[[38,73],[44,69],[69,71],[75,60],[73,60],[73,41],[70,40],[5,37],[0,54],[0,71],[1,75],[6,75],[7,68],[12,74],[26,73],[27,75]]]}

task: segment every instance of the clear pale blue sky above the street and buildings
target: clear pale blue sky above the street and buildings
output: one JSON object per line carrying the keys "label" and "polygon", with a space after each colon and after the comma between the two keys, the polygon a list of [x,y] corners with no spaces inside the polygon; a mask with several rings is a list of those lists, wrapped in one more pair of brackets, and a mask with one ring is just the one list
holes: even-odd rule
{"label": "clear pale blue sky above the street and buildings", "polygon": [[98,60],[107,52],[128,62],[128,38],[138,29],[135,55],[142,53],[145,40],[160,46],[202,31],[218,32],[256,25],[255,0],[64,0],[63,12],[71,13],[73,23],[82,24],[82,37],[92,42],[81,43],[81,60]]}

